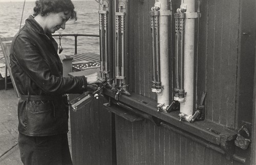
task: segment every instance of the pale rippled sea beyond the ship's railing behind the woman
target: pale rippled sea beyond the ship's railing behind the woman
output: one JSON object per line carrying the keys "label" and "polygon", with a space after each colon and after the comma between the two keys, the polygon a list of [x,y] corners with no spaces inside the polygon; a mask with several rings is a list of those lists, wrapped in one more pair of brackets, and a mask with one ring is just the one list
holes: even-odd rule
{"label": "pale rippled sea beyond the ship's railing behind the woman", "polygon": [[[99,34],[98,3],[92,1],[72,1],[77,12],[76,21],[69,20],[66,29],[56,31],[54,34]],[[0,36],[13,37],[25,20],[33,14],[35,1],[26,1],[23,13],[24,2],[0,2]],[[22,14],[23,13],[23,14]],[[21,23],[20,23],[21,22]],[[54,37],[59,44],[59,37]],[[61,54],[74,54],[74,37],[61,37]],[[77,37],[77,53],[99,54],[99,37]],[[0,52],[2,54],[2,52]],[[1,56],[1,55],[0,55]]]}

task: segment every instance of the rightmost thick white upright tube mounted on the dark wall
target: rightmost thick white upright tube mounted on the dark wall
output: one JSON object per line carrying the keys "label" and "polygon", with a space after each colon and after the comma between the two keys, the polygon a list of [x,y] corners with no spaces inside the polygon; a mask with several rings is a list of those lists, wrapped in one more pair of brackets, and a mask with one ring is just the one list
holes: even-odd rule
{"label": "rightmost thick white upright tube mounted on the dark wall", "polygon": [[[185,102],[180,104],[180,112],[187,116],[193,115],[194,108],[194,49],[195,49],[195,19],[190,17],[195,13],[195,0],[182,0],[181,6],[186,8],[184,25],[184,89]],[[197,14],[197,13],[196,13]]]}

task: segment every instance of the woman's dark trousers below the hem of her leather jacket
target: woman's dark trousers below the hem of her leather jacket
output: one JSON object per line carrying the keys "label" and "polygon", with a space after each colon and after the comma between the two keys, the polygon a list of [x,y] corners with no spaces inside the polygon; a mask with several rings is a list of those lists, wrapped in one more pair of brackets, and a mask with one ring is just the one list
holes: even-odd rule
{"label": "woman's dark trousers below the hem of her leather jacket", "polygon": [[67,133],[35,137],[19,134],[18,146],[25,165],[72,164]]}

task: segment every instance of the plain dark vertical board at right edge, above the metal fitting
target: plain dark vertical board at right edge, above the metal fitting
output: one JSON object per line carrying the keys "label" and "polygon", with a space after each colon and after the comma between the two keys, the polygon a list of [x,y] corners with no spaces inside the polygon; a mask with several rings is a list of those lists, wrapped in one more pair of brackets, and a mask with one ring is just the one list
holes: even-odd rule
{"label": "plain dark vertical board at right edge, above the metal fitting", "polygon": [[[239,114],[238,126],[241,127],[241,122],[252,121],[252,98],[253,98],[253,72],[255,60],[255,27],[256,22],[254,8],[255,1],[240,1],[241,2],[241,50],[239,55]],[[248,12],[252,11],[252,12]],[[248,19],[249,18],[249,19]]]}

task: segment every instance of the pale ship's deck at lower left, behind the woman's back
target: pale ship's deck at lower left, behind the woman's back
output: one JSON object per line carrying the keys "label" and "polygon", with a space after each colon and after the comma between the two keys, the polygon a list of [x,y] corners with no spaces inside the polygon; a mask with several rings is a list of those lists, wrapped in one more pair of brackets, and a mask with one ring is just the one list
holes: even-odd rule
{"label": "pale ship's deck at lower left, behind the woman's back", "polygon": [[0,158],[0,164],[18,165],[22,164],[19,157],[18,142],[18,119],[17,103],[14,89],[0,90],[0,155],[7,152]]}

